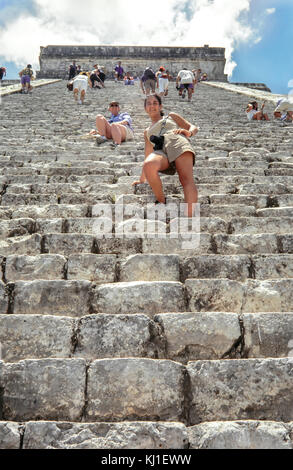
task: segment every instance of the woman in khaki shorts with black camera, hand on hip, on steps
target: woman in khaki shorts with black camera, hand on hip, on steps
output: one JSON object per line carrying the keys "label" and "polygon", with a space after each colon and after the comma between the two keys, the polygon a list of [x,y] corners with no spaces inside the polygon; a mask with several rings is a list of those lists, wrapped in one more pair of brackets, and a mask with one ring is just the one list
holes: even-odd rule
{"label": "woman in khaki shorts with black camera, hand on hip, on steps", "polygon": [[[197,203],[198,194],[193,178],[195,152],[188,137],[195,135],[198,128],[179,114],[170,113],[165,119],[162,118],[164,115],[162,100],[158,95],[148,96],[144,107],[151,119],[151,125],[144,132],[145,160],[142,174],[140,180],[135,181],[132,185],[147,181],[157,202],[166,203],[159,172],[175,174],[177,171],[180,183],[183,186],[184,200],[188,205],[186,215],[192,217],[192,204]],[[153,139],[153,136],[155,136],[155,139]],[[160,136],[164,137],[164,142],[161,142],[161,144]]]}

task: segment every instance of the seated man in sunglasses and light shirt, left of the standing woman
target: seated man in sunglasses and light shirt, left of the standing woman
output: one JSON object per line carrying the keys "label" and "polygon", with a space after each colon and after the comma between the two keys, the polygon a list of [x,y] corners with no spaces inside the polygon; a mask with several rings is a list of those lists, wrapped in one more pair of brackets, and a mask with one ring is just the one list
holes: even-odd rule
{"label": "seated man in sunglasses and light shirt, left of the standing woman", "polygon": [[132,119],[129,113],[120,112],[118,101],[111,101],[109,104],[111,113],[110,119],[106,119],[102,114],[96,116],[96,130],[92,130],[90,135],[96,136],[98,145],[113,140],[112,146],[117,147],[122,142],[133,139]]}

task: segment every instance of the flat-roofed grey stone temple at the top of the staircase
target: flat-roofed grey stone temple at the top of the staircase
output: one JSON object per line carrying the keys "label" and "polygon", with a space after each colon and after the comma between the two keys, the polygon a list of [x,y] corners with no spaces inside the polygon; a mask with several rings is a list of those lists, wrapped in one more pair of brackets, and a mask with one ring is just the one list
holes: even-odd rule
{"label": "flat-roofed grey stone temple at the top of the staircase", "polygon": [[163,65],[171,75],[183,67],[200,68],[210,80],[227,81],[224,74],[225,48],[222,47],[153,47],[153,46],[47,46],[41,47],[38,78],[64,78],[75,60],[82,69],[94,64],[109,74],[121,61],[125,71],[140,76],[146,67],[154,70]]}

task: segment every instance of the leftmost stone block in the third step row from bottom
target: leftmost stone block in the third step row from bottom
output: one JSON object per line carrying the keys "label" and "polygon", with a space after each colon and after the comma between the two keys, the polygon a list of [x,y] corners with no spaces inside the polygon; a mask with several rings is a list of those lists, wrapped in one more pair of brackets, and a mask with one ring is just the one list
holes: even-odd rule
{"label": "leftmost stone block in the third step row from bottom", "polygon": [[0,315],[2,360],[70,357],[74,320],[44,315]]}

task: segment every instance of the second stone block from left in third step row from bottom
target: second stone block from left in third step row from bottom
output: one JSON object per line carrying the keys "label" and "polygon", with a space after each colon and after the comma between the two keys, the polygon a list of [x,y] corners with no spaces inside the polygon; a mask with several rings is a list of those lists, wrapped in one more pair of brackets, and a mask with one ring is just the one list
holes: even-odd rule
{"label": "second stone block from left in third step row from bottom", "polygon": [[145,315],[89,315],[80,319],[75,356],[162,357],[158,327]]}

